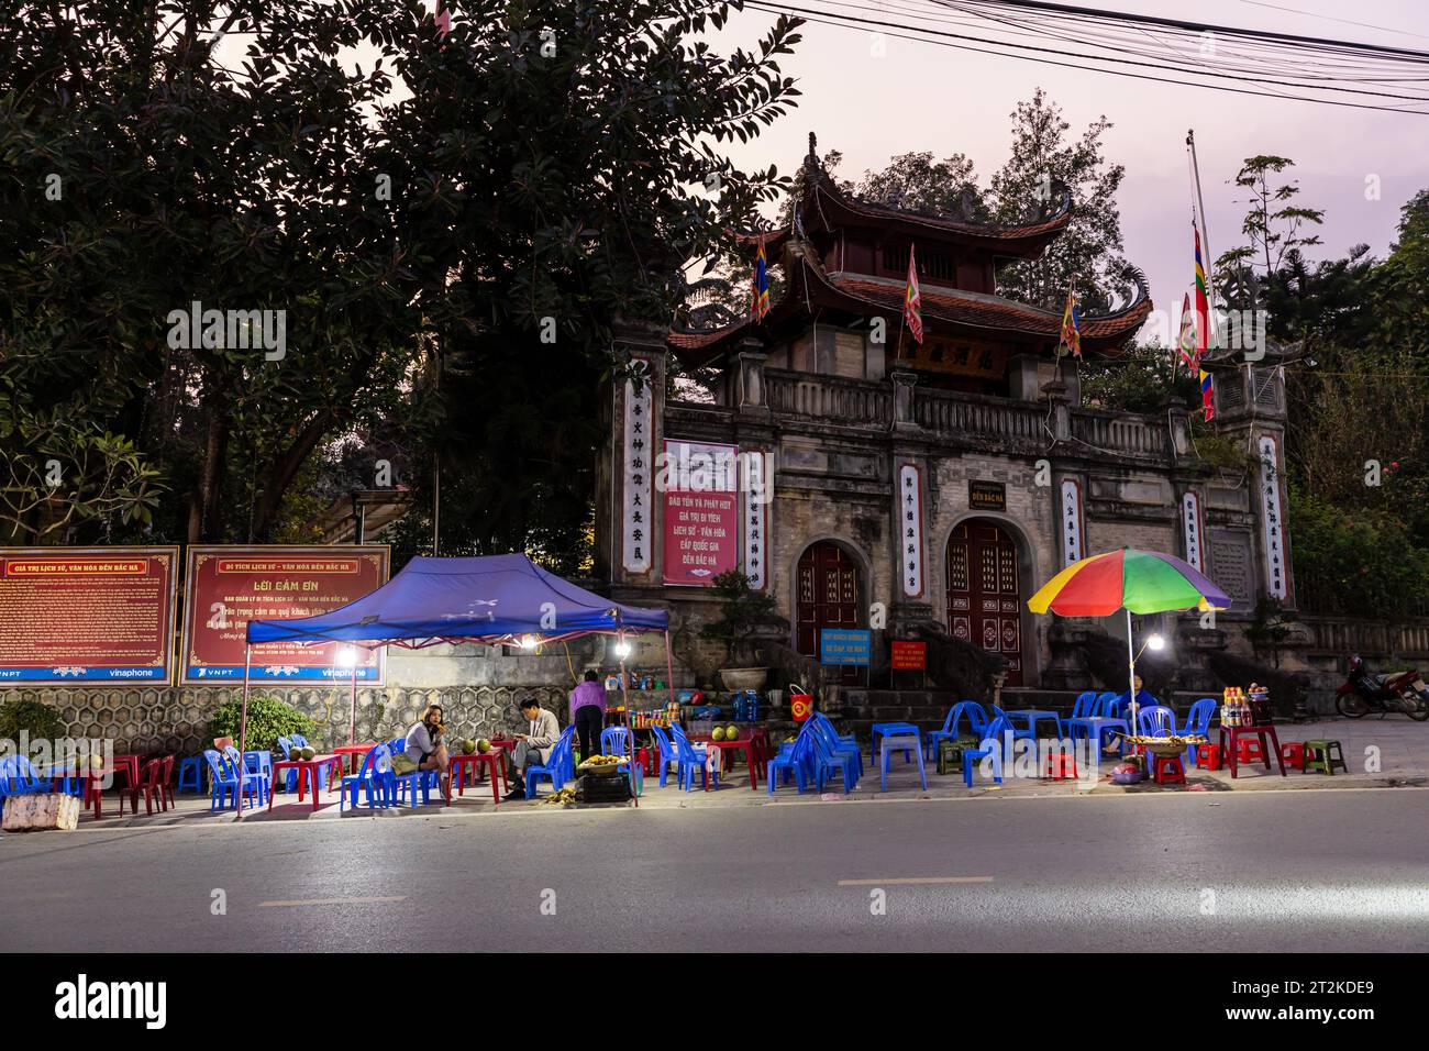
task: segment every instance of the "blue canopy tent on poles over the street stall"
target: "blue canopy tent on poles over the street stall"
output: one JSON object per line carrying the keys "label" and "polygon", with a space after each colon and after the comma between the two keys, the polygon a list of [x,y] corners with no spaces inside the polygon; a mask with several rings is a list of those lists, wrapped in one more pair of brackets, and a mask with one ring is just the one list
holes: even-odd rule
{"label": "blue canopy tent on poles over the street stall", "polygon": [[[264,642],[347,642],[363,649],[389,645],[420,649],[443,642],[484,642],[534,649],[542,642],[560,642],[582,635],[617,635],[623,639],[626,633],[664,632],[664,662],[673,701],[674,669],[669,629],[667,611],[613,602],[542,569],[526,555],[417,556],[377,591],[346,606],[294,621],[249,621],[239,748],[247,745],[253,646]],[[623,651],[623,646],[617,651],[622,691],[626,689]],[[356,702],[354,675],[353,736]]]}

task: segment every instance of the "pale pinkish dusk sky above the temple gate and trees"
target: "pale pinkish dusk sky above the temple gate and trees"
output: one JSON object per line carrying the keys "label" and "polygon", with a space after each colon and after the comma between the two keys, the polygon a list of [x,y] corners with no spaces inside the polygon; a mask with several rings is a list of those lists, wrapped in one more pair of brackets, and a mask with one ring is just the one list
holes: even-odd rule
{"label": "pale pinkish dusk sky above the temple gate and trees", "polygon": [[[796,7],[823,3],[785,0]],[[850,0],[860,17],[907,23],[909,11],[939,9],[925,0]],[[1300,36],[1429,50],[1429,3],[1372,0],[1086,0],[1087,7],[1167,19],[1260,29]],[[1295,11],[1283,10],[1293,7]],[[846,9],[847,10],[847,9]],[[1316,17],[1326,16],[1326,17]],[[775,16],[736,14],[719,43],[749,46]],[[1376,27],[1345,24],[1372,23]],[[956,27],[952,27],[956,29]],[[973,30],[962,30],[973,31]],[[1190,186],[1186,129],[1196,130],[1202,192],[1216,255],[1243,243],[1245,207],[1233,184],[1245,157],[1272,153],[1296,166],[1286,176],[1300,186],[1299,203],[1325,210],[1323,245],[1312,259],[1345,255],[1368,243],[1383,257],[1395,239],[1399,209],[1429,187],[1429,116],[1378,113],[1308,102],[1250,97],[1182,84],[1130,80],[1102,73],[975,54],[950,47],[887,39],[885,57],[872,57],[870,31],[809,23],[796,54],[780,64],[799,80],[799,107],[749,144],[727,147],[746,167],[777,164],[792,173],[807,152],[809,132],[819,152],[843,153],[840,174],[857,180],[899,153],[930,150],[935,157],[966,153],[987,186],[1010,146],[1010,114],[1017,102],[1046,89],[1072,124],[1069,136],[1105,114],[1106,157],[1126,167],[1117,197],[1126,259],[1150,282],[1156,306],[1179,312],[1190,287]],[[1046,44],[1046,40],[1033,43]],[[1145,70],[1156,76],[1173,76]],[[1429,109],[1429,107],[1422,107]],[[1366,199],[1366,177],[1379,176],[1379,199]],[[1149,333],[1147,333],[1149,335]]]}

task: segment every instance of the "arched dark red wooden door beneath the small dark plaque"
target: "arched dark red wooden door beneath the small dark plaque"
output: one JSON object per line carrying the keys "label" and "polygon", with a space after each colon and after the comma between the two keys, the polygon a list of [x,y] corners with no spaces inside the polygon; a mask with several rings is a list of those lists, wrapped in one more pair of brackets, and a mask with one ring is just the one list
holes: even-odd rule
{"label": "arched dark red wooden door beneath the small dark plaque", "polygon": [[970,519],[947,541],[947,626],[1007,662],[1022,685],[1022,589],[1017,545],[995,522]]}

